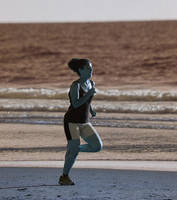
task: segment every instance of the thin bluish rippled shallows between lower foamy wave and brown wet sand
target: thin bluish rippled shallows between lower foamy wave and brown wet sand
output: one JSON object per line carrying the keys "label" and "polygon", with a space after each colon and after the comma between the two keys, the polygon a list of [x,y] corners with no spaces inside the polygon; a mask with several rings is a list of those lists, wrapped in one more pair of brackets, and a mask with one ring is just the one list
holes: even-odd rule
{"label": "thin bluish rippled shallows between lower foamy wave and brown wet sand", "polygon": [[[91,118],[94,126],[177,130],[176,115],[101,116],[100,113],[99,115]],[[0,113],[0,123],[63,125],[63,116],[63,113],[55,112],[2,112]]]}

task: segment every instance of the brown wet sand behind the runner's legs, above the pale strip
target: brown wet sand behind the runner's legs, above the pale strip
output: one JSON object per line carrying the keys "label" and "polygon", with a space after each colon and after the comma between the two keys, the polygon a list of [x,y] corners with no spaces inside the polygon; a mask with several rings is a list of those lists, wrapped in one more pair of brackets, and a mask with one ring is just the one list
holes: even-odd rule
{"label": "brown wet sand behind the runner's legs, above the pale strip", "polygon": [[[110,115],[111,113],[106,116]],[[114,117],[116,115],[131,117],[130,114],[114,113]],[[132,118],[135,116],[132,115]],[[123,124],[127,122],[120,120]],[[136,120],[136,123],[142,124],[142,121]],[[98,153],[80,153],[78,160],[177,160],[176,130],[99,126],[95,128],[103,140],[103,150]],[[67,142],[62,125],[0,124],[0,129],[2,161],[64,160]],[[84,142],[81,140],[81,143]]]}

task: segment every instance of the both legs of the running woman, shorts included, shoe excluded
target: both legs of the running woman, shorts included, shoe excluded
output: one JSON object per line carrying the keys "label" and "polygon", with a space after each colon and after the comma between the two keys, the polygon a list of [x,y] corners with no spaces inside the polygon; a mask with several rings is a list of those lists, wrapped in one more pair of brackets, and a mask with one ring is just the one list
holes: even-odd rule
{"label": "both legs of the running woman, shorts included, shoe excluded", "polygon": [[[96,129],[91,123],[78,125],[75,123],[64,124],[65,133],[67,135],[68,144],[65,155],[65,163],[63,174],[68,175],[76,157],[80,152],[98,152],[103,148],[103,143]],[[87,144],[80,145],[80,136]]]}

